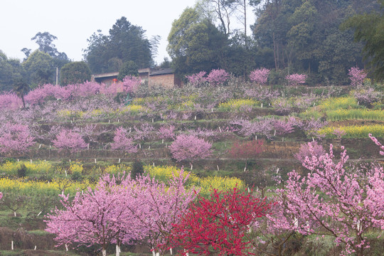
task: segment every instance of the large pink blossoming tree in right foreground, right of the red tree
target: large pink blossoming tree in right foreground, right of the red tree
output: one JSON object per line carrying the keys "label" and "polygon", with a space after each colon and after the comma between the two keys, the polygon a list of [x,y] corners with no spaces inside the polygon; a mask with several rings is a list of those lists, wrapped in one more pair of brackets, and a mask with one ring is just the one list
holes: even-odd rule
{"label": "large pink blossoming tree in right foreground, right of the red tree", "polygon": [[[374,141],[381,146],[377,139]],[[383,167],[373,164],[347,171],[346,151],[336,160],[332,145],[329,154],[321,156],[309,150],[311,156],[306,156],[303,163],[309,174],[290,172],[283,190],[277,191],[284,193],[289,213],[301,220],[295,229],[304,235],[333,237],[343,247],[343,255],[364,255],[370,247],[368,230],[384,228]]]}

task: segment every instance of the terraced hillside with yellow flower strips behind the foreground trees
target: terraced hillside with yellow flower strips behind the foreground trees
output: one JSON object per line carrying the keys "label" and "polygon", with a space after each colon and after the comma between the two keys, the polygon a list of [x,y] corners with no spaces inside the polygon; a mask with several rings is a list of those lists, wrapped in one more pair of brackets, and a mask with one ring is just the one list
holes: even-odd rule
{"label": "terraced hillside with yellow flower strips behind the foreground trees", "polygon": [[129,172],[134,161],[164,180],[183,166],[209,191],[271,187],[277,173],[285,179],[292,169],[305,171],[299,152],[308,142],[325,150],[334,144],[336,155],[343,145],[349,161],[384,160],[368,138],[384,137],[379,85],[260,87],[233,79],[167,90],[139,85],[129,94],[127,87],[45,85],[29,92],[26,109],[16,95],[0,95],[0,250],[14,241],[16,254],[8,255],[64,255],[43,231],[44,216],[60,206],[57,195],[95,186],[102,174]]}

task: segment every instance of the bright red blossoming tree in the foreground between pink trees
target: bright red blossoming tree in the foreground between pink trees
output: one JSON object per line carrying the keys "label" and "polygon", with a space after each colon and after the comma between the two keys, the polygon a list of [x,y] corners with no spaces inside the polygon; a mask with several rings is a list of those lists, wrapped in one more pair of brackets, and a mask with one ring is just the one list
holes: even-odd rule
{"label": "bright red blossoming tree in the foreground between pink trees", "polygon": [[264,216],[270,204],[234,188],[226,192],[213,190],[210,198],[193,203],[174,224],[172,241],[180,252],[198,255],[252,255],[245,235],[250,225]]}

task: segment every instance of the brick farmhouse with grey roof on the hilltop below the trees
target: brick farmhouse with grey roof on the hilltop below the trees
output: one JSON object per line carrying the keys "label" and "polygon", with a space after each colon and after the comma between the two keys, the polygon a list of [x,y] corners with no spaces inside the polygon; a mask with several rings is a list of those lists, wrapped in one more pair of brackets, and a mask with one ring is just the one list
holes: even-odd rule
{"label": "brick farmhouse with grey roof on the hilltop below the trees", "polygon": [[[114,79],[117,79],[118,72],[103,73],[92,75],[91,81],[111,84]],[[151,69],[141,68],[139,69],[139,78],[148,82],[149,86],[161,85],[166,88],[171,88],[182,85],[180,79],[176,78],[174,70],[171,68]]]}

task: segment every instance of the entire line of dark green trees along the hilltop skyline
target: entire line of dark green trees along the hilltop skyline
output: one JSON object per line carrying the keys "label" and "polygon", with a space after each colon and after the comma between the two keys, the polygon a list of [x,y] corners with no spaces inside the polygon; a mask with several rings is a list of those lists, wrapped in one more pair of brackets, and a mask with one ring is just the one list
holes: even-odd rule
{"label": "entire line of dark green trees along the hilltop skyline", "polygon": [[[384,79],[384,0],[200,0],[171,26],[167,50],[171,60],[155,63],[159,36],[146,38],[140,26],[117,19],[108,35],[93,33],[84,60],[72,62],[53,44],[56,36],[36,33],[38,49],[23,48],[21,61],[0,50],[0,90],[20,84],[38,87],[90,80],[91,73],[137,75],[139,68],[174,68],[179,78],[224,69],[248,78],[257,68],[271,69],[277,84],[305,73],[309,85],[348,83],[348,69],[364,68],[368,77]],[[252,12],[249,10],[252,9]],[[247,31],[247,17],[256,21]],[[234,29],[234,23],[242,29]]]}

